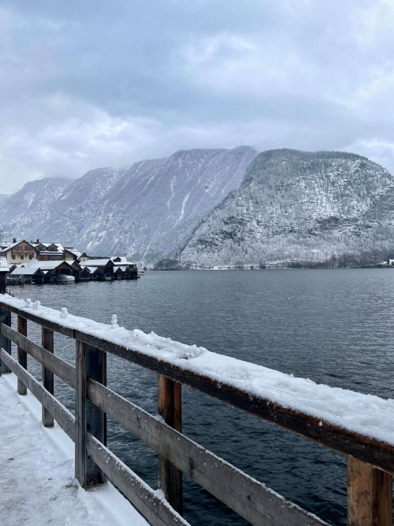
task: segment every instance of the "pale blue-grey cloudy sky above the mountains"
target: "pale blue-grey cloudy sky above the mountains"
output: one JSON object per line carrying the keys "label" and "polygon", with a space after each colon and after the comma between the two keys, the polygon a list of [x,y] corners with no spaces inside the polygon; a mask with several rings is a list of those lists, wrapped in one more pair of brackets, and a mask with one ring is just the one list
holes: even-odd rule
{"label": "pale blue-grey cloudy sky above the mountains", "polygon": [[392,0],[3,0],[0,193],[185,148],[394,173]]}

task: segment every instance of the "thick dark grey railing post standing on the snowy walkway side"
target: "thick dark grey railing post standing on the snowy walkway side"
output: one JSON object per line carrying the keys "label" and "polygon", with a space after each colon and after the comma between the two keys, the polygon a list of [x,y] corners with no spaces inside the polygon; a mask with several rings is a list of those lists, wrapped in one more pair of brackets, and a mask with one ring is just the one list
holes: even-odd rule
{"label": "thick dark grey railing post standing on the snowy walkway side", "polygon": [[92,404],[86,395],[87,377],[106,384],[106,354],[104,351],[76,341],[76,386],[75,386],[75,477],[82,488],[105,481],[105,475],[88,457],[86,433],[89,431],[106,445],[106,415]]}

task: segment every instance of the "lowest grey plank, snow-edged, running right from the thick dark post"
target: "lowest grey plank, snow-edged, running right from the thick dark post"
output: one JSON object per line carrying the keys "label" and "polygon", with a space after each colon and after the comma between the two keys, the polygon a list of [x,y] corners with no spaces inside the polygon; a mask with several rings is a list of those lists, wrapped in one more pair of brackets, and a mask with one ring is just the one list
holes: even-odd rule
{"label": "lowest grey plank, snow-edged, running right from the thick dark post", "polygon": [[152,526],[190,526],[167,501],[157,497],[152,488],[90,433],[87,433],[87,448],[90,457]]}

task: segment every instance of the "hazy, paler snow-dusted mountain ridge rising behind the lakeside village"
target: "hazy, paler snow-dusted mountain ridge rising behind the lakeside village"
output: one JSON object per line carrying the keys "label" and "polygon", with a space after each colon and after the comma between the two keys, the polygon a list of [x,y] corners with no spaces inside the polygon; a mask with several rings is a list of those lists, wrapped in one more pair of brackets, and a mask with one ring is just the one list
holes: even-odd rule
{"label": "hazy, paler snow-dusted mountain ridge rising behind the lakeside village", "polygon": [[0,225],[5,238],[154,261],[179,251],[206,214],[240,187],[256,155],[248,146],[194,149],[127,170],[91,170],[71,183],[33,181],[0,196]]}

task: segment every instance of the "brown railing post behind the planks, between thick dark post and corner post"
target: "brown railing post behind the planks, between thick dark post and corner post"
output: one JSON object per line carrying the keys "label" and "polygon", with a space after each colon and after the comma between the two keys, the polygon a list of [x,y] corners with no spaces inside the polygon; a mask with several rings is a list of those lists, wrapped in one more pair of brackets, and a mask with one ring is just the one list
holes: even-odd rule
{"label": "brown railing post behind the planks, between thick dark post and corner post", "polygon": [[[158,375],[158,412],[165,423],[182,431],[182,385]],[[183,513],[182,471],[159,455],[159,487],[175,511]]]}

